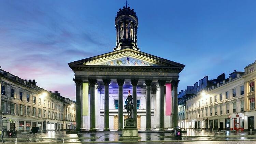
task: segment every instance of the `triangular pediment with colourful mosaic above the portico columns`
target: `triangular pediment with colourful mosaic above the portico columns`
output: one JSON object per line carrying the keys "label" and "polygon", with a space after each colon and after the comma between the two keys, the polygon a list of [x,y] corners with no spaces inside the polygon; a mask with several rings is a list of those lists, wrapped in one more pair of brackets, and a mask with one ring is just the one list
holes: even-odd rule
{"label": "triangular pediment with colourful mosaic above the portico columns", "polygon": [[126,48],[95,57],[69,63],[70,66],[147,66],[147,67],[180,67],[185,65],[156,57],[134,49]]}

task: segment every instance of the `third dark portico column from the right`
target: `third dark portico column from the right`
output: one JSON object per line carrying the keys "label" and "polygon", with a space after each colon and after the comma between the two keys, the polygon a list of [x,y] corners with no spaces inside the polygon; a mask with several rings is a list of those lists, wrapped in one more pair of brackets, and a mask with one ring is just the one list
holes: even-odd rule
{"label": "third dark portico column from the right", "polygon": [[146,84],[146,130],[151,130],[151,103],[150,103],[150,87],[152,80],[145,80]]}

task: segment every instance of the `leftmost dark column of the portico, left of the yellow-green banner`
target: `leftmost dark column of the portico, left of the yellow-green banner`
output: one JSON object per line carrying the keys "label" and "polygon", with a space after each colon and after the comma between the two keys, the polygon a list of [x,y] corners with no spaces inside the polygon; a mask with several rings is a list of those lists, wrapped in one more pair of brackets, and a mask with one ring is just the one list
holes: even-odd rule
{"label": "leftmost dark column of the portico, left of the yellow-green banner", "polygon": [[75,111],[75,120],[76,120],[76,131],[80,131],[81,130],[81,84],[82,81],[78,80],[78,79],[73,79],[73,81],[75,82],[75,101],[76,101],[76,111]]}

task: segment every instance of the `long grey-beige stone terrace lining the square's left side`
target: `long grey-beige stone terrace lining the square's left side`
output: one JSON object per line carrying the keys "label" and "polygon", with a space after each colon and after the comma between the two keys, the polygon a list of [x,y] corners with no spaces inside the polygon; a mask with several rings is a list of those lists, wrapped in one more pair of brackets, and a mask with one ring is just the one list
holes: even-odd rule
{"label": "long grey-beige stone terrace lining the square's left side", "polygon": [[[1,67],[0,67],[1,68]],[[3,131],[67,130],[75,126],[75,102],[47,91],[35,80],[23,80],[0,69],[1,112]]]}

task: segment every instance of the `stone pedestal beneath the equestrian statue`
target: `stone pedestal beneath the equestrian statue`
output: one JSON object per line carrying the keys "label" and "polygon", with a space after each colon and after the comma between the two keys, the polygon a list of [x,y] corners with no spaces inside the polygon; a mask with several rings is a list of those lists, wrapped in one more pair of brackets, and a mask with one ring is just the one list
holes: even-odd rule
{"label": "stone pedestal beneath the equestrian statue", "polygon": [[123,129],[122,138],[127,139],[141,139],[138,136],[138,129],[136,127],[136,119],[126,118],[125,120],[125,128]]}

